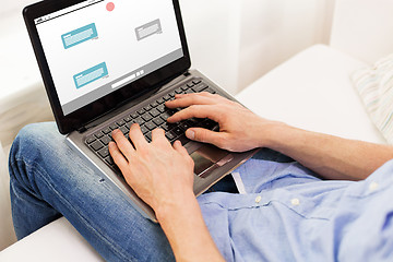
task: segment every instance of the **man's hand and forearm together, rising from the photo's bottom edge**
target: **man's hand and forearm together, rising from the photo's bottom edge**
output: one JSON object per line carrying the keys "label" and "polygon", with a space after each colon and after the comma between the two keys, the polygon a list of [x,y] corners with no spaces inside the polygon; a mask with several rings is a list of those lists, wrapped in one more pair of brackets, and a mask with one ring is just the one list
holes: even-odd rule
{"label": "man's hand and forearm together, rising from the photo's bottom edge", "polygon": [[119,130],[109,152],[127,182],[155,211],[178,261],[223,261],[204,224],[193,193],[193,160],[180,142],[172,145],[164,130],[147,143],[138,124],[130,139]]}

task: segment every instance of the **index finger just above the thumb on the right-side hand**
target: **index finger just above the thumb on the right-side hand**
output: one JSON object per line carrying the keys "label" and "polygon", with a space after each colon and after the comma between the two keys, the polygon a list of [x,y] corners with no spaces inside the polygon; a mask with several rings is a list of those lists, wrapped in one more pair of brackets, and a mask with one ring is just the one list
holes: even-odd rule
{"label": "index finger just above the thumb on the right-side hand", "polygon": [[174,116],[169,117],[167,121],[179,122],[190,118],[210,118],[219,122],[221,116],[223,116],[223,114],[216,105],[193,105],[176,112]]}

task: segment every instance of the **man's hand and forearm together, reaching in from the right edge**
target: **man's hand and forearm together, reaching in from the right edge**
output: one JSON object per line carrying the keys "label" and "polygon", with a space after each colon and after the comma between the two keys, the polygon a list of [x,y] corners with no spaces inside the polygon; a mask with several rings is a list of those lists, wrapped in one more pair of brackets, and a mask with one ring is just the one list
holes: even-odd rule
{"label": "man's hand and forearm together, reaching in from the right edge", "polygon": [[391,146],[344,140],[265,120],[217,95],[178,95],[167,106],[186,108],[169,118],[169,122],[207,117],[219,123],[219,132],[189,129],[186,133],[189,139],[236,152],[269,147],[326,179],[365,179],[393,158]]}

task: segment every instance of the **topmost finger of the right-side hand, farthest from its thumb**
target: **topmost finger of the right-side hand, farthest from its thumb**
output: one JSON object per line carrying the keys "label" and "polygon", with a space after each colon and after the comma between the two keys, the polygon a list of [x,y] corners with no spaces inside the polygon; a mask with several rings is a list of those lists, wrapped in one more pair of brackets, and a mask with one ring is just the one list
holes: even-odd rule
{"label": "topmost finger of the right-side hand, farthest from its thumb", "polygon": [[[209,95],[206,95],[209,94]],[[175,100],[166,102],[165,106],[168,108],[184,108],[191,105],[213,105],[216,104],[214,97],[210,93],[200,94],[184,94],[176,96]]]}

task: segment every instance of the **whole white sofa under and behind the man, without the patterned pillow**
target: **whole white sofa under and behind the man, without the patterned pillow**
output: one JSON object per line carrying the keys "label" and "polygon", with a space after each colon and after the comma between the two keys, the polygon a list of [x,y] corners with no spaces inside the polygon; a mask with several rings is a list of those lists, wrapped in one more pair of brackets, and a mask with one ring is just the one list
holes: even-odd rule
{"label": "whole white sofa under and behind the man, without the patterned pillow", "polygon": [[[356,69],[393,52],[392,11],[393,2],[389,0],[378,4],[373,0],[338,0],[330,46],[306,49],[237,98],[265,118],[348,139],[385,143],[349,76]],[[64,218],[0,252],[0,261],[27,259],[103,261]]]}

